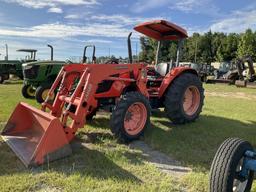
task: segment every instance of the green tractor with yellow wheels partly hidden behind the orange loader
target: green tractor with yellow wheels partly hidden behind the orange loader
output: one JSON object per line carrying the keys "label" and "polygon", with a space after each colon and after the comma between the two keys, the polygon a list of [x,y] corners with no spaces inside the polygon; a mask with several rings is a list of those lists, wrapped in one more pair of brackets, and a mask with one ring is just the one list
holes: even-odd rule
{"label": "green tractor with yellow wheels partly hidden behind the orange loader", "polygon": [[[53,60],[53,47],[48,45],[51,49],[51,59],[48,61],[37,61],[37,62],[30,62],[24,63],[23,67],[23,87],[22,87],[22,95],[25,98],[33,99],[35,98],[38,103],[44,102],[48,95],[48,91],[50,90],[52,83],[56,79],[57,75],[59,74],[60,69],[64,65],[71,64],[70,60],[67,61],[55,61]],[[96,61],[95,57],[95,46],[94,45],[87,45],[84,48],[84,55],[83,55],[83,63],[87,62],[86,57],[86,50],[88,47],[93,48],[93,56],[92,62]],[[50,98],[53,100],[55,95]]]}

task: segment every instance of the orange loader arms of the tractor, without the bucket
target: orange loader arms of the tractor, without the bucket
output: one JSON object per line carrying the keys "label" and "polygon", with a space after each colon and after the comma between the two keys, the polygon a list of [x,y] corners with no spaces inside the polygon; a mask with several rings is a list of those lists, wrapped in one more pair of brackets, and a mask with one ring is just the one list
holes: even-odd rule
{"label": "orange loader arms of the tractor, without the bucket", "polygon": [[[60,85],[53,105],[47,103],[46,100],[42,104],[42,110],[46,111],[46,108],[48,108],[50,109],[51,115],[60,118],[66,136],[71,141],[77,129],[83,127],[86,123],[86,115],[97,108],[98,100],[96,98],[96,91],[98,84],[102,81],[113,80],[114,77],[112,76],[115,74],[129,74],[130,72],[134,72],[137,74],[135,78],[114,79],[115,81],[118,80],[121,82],[136,82],[137,89],[148,97],[145,83],[146,77],[141,75],[141,71],[143,70],[145,70],[143,64],[67,65],[61,70],[60,75],[49,92],[50,96],[58,85]],[[70,95],[69,93],[76,78],[79,78],[79,82],[74,92]],[[65,105],[67,105],[66,108],[64,108]],[[71,106],[76,106],[76,110],[71,111]]]}

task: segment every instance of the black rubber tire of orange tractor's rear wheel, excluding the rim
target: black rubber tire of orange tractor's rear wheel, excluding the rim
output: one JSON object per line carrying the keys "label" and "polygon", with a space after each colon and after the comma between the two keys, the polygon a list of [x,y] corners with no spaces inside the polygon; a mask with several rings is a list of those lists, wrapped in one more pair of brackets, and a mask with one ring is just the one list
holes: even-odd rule
{"label": "black rubber tire of orange tractor's rear wheel, excluding the rim", "polygon": [[[189,87],[193,87],[198,91],[199,104],[197,110],[193,114],[187,114],[184,110],[184,95]],[[168,118],[174,124],[184,124],[195,121],[204,104],[204,89],[199,77],[192,73],[183,73],[177,77],[169,86],[165,93],[164,107]]]}

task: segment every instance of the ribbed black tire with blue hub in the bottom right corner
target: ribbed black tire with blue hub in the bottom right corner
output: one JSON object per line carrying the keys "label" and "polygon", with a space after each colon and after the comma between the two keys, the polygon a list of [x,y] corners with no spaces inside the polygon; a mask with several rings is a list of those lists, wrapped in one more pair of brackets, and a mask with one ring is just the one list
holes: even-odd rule
{"label": "ribbed black tire with blue hub in the bottom right corner", "polygon": [[[225,140],[213,159],[210,170],[210,192],[233,192],[234,181],[244,181],[238,175],[237,167],[245,151],[253,150],[251,144],[238,138]],[[254,172],[249,172],[245,192],[251,190]]]}

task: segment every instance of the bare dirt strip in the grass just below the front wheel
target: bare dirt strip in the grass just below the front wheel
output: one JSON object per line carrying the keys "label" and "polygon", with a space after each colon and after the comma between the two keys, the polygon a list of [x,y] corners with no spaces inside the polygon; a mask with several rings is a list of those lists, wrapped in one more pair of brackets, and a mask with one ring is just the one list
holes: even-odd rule
{"label": "bare dirt strip in the grass just below the front wheel", "polygon": [[135,141],[130,144],[130,148],[139,149],[148,162],[154,164],[162,172],[172,176],[181,177],[192,171],[188,167],[181,166],[181,163],[166,154],[152,149],[143,141]]}

